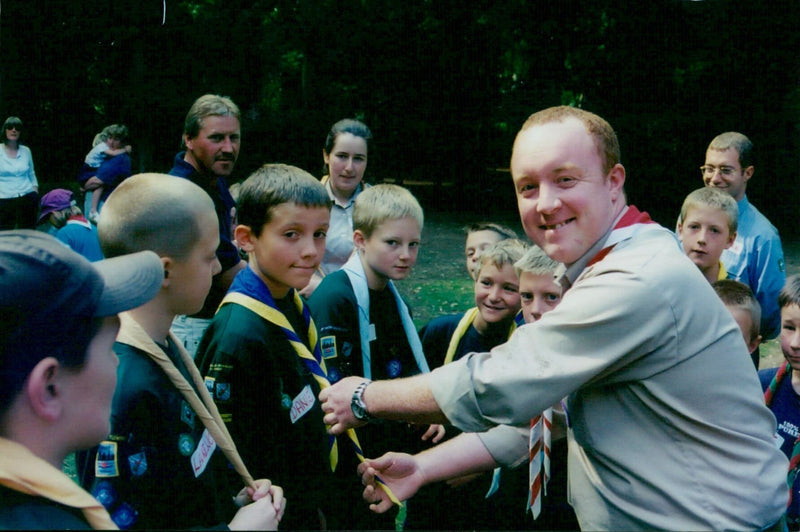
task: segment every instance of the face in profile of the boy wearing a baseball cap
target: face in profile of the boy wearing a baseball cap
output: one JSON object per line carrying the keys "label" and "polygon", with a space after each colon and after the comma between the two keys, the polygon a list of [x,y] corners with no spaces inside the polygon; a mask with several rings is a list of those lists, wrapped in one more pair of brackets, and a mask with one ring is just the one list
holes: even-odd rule
{"label": "face in profile of the boy wearing a baseball cap", "polygon": [[89,343],[85,364],[76,370],[62,366],[63,401],[70,409],[65,426],[74,431],[71,439],[75,449],[97,445],[111,431],[111,400],[119,364],[111,348],[118,331],[116,316],[103,318],[100,330]]}

